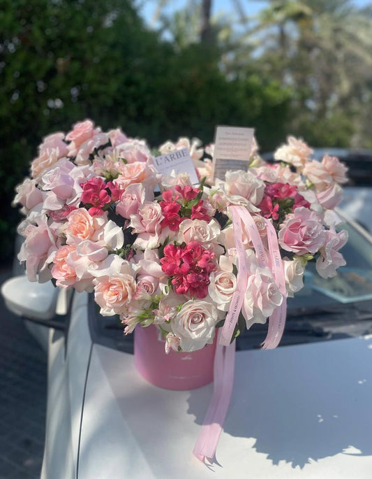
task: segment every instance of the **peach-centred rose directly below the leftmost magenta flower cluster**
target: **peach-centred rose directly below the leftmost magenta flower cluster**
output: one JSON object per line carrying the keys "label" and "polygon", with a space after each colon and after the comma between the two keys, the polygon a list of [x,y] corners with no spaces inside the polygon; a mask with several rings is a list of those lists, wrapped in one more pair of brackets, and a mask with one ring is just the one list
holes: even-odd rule
{"label": "peach-centred rose directly below the leftmost magenta flower cluster", "polygon": [[71,211],[67,217],[66,240],[69,245],[77,245],[80,241],[90,239],[98,241],[103,234],[107,220],[104,216],[92,217],[85,208]]}

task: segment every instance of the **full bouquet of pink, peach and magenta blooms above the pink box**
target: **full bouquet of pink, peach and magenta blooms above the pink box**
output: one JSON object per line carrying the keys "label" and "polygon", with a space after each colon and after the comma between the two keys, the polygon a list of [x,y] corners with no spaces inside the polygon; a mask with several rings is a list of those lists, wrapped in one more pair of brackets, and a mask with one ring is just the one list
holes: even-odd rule
{"label": "full bouquet of pink, peach and magenta blooms above the pink box", "polygon": [[[156,168],[158,155],[185,148],[197,184]],[[213,149],[179,138],[151,151],[90,120],[45,137],[15,196],[29,280],[93,292],[125,334],[156,327],[167,353],[204,350],[218,329],[228,346],[267,318],[264,347],[274,348],[307,262],[323,278],[345,264],[334,207],[346,169],[335,157],[311,159],[290,137],[277,162],[264,162],[254,142],[245,170],[213,178]]]}

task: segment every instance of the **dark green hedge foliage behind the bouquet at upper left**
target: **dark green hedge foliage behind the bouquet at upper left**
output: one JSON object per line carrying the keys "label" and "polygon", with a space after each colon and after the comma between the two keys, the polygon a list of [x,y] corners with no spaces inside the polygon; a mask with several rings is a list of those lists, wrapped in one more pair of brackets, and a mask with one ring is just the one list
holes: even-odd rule
{"label": "dark green hedge foliage behind the bouquet at upper left", "polygon": [[132,0],[2,0],[0,8],[0,255],[11,257],[14,187],[41,138],[90,117],[155,147],[179,136],[213,141],[216,124],[283,137],[288,94],[258,77],[229,81],[213,45],[182,50],[149,31]]}

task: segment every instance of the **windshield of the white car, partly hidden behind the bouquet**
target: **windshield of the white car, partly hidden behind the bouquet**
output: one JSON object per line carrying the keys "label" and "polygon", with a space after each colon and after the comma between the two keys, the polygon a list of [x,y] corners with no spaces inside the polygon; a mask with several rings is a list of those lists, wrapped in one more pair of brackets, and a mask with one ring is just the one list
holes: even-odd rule
{"label": "windshield of the white car, partly hidden behind the bouquet", "polygon": [[[341,250],[346,266],[323,279],[308,264],[304,287],[288,299],[281,346],[372,334],[372,242],[348,222],[339,229],[349,234]],[[102,317],[93,297],[89,319],[94,342],[133,352],[133,334],[124,336],[117,317]],[[253,324],[237,338],[237,350],[260,348],[266,334],[267,324]]]}

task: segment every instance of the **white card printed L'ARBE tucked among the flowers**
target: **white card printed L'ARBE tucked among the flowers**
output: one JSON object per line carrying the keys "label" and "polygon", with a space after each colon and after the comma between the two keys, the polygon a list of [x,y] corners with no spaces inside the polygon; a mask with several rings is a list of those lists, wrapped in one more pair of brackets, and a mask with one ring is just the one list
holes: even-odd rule
{"label": "white card printed L'ARBE tucked among the flowers", "polygon": [[161,155],[154,158],[154,166],[158,173],[162,175],[170,175],[172,171],[178,173],[188,173],[190,181],[193,185],[199,183],[198,175],[196,174],[193,160],[190,157],[188,148],[176,150],[167,155]]}

